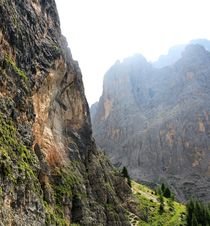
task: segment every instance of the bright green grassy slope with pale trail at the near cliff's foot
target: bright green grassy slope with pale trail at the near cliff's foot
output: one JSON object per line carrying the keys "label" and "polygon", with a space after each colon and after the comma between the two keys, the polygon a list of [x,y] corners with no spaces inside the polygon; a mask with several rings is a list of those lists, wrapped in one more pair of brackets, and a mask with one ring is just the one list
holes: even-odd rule
{"label": "bright green grassy slope with pale trail at the near cliff's foot", "polygon": [[[148,187],[132,182],[132,190],[139,200],[141,219],[129,214],[132,225],[138,226],[180,226],[185,225],[185,206],[164,198],[164,212],[159,213],[159,200]],[[171,207],[172,206],[172,207]]]}

